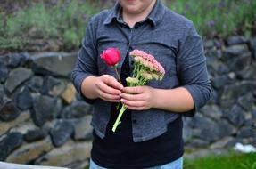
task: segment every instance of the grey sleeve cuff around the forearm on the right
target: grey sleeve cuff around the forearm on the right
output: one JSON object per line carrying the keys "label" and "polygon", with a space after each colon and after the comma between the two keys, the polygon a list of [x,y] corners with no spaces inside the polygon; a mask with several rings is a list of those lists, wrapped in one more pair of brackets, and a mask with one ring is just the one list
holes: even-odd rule
{"label": "grey sleeve cuff around the forearm on the right", "polygon": [[192,85],[185,85],[183,87],[191,94],[191,96],[194,100],[194,109],[186,111],[183,115],[185,117],[194,117],[195,113],[198,111],[198,109],[200,109],[200,106],[199,106],[200,101],[198,98],[198,93],[197,93],[196,89],[194,89],[194,86],[192,86]]}

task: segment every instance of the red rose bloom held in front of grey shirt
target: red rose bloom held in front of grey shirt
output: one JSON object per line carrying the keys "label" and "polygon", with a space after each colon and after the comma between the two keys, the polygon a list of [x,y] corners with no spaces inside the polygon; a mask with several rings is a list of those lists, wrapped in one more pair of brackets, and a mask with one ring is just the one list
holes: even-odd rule
{"label": "red rose bloom held in front of grey shirt", "polygon": [[103,51],[101,58],[108,66],[115,66],[121,60],[120,50],[116,48],[109,48]]}

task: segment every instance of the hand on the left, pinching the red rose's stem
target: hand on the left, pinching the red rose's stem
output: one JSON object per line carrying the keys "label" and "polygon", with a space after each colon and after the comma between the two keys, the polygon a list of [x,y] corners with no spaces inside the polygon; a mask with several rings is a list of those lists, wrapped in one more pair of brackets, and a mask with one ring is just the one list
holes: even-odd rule
{"label": "hand on the left, pinching the red rose's stem", "polygon": [[104,101],[120,102],[120,93],[123,85],[113,76],[99,76],[95,82],[95,92]]}

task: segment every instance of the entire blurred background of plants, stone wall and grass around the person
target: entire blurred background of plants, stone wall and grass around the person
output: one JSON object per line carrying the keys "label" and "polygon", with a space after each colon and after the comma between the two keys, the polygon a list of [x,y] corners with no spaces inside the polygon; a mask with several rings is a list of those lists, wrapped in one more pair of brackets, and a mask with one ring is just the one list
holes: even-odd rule
{"label": "entire blurred background of plants, stone wall and grass around the person", "polygon": [[[184,117],[185,168],[256,169],[256,1],[162,2],[194,22],[214,89]],[[70,71],[88,20],[114,3],[0,0],[0,161],[87,167],[91,106]]]}

